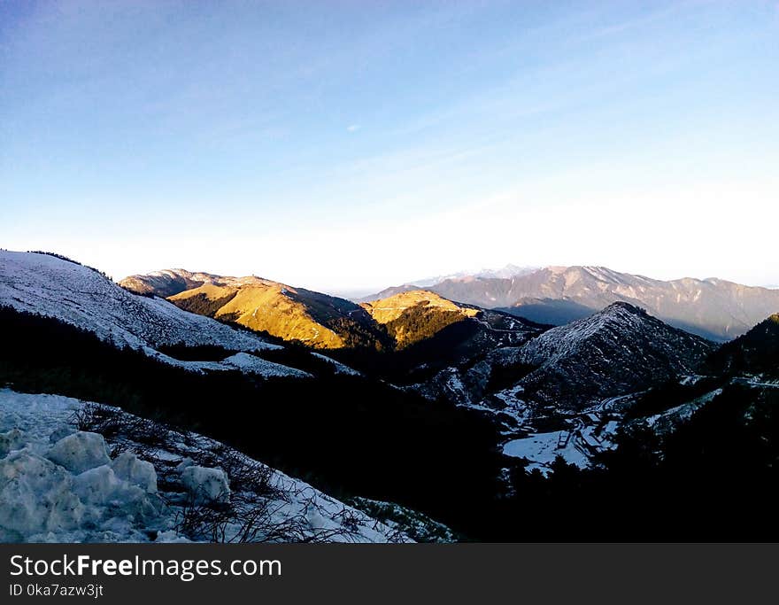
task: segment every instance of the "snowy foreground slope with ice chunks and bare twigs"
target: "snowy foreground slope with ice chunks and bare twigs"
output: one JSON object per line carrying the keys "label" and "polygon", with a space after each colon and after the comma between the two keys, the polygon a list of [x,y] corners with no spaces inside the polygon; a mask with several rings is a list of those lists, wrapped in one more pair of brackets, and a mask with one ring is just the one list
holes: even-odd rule
{"label": "snowy foreground slope with ice chunks and bare twigs", "polygon": [[[111,427],[110,438],[75,421]],[[410,541],[210,438],[9,389],[0,390],[0,539]]]}

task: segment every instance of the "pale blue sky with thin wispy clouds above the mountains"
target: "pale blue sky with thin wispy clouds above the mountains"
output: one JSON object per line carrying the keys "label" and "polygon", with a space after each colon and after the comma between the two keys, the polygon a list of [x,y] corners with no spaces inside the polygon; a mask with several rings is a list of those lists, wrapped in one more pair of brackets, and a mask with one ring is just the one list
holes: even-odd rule
{"label": "pale blue sky with thin wispy clouds above the mountains", "polygon": [[0,2],[0,247],[779,284],[779,3]]}

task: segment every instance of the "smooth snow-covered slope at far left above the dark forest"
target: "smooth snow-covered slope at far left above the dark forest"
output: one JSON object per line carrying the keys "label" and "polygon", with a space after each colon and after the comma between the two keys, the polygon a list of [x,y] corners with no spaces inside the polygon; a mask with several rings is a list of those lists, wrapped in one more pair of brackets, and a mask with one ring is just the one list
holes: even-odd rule
{"label": "smooth snow-covered slope at far left above the dark forest", "polygon": [[0,251],[0,305],[55,317],[133,347],[280,348],[164,299],[131,294],[90,268],[34,252]]}

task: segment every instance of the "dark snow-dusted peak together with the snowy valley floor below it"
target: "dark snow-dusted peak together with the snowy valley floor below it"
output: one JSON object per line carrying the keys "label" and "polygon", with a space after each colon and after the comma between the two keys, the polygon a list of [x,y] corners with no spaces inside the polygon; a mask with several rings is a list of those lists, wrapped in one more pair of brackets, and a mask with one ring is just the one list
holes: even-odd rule
{"label": "dark snow-dusted peak together with the snowy valley floor below it", "polygon": [[657,432],[687,422],[721,394],[723,381],[694,376],[714,348],[620,302],[410,388],[491,417],[503,454],[547,475],[560,457],[588,468],[636,416]]}

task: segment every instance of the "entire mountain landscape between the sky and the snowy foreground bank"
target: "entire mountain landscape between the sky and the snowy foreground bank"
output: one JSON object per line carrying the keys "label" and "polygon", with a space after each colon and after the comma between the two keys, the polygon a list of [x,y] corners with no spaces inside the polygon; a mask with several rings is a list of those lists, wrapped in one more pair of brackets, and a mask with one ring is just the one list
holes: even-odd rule
{"label": "entire mountain landscape between the sky and the snowy foreground bank", "polygon": [[[544,298],[504,305],[531,290]],[[699,469],[719,480],[728,456],[738,459],[729,477],[758,477],[749,489],[771,480],[779,314],[765,292],[575,267],[450,278],[355,303],[183,269],[120,286],[56,254],[0,251],[0,380],[152,415],[155,431],[176,423],[220,437],[371,510],[398,502],[465,535],[521,538],[519,522],[505,533],[517,511],[557,518],[567,500],[547,495],[561,485],[592,482],[595,492],[571,501],[602,524],[636,506],[649,515],[646,490],[670,497],[686,489],[677,478],[708,477]],[[700,336],[724,338],[734,317],[746,325],[760,308],[773,310],[725,344]],[[558,321],[523,316],[533,309]],[[582,316],[563,322],[573,310]],[[683,330],[690,318],[698,328]],[[0,447],[15,435],[0,435]],[[630,477],[634,490],[649,482],[636,500],[622,489]],[[685,501],[713,501],[716,485]]]}

